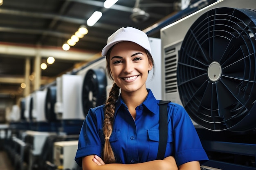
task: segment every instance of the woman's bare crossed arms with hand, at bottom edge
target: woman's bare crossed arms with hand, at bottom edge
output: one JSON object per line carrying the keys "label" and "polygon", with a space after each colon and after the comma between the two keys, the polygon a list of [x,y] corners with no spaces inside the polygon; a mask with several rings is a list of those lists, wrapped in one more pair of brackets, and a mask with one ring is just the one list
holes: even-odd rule
{"label": "woman's bare crossed arms with hand, at bottom edge", "polygon": [[200,170],[198,161],[184,163],[179,168],[176,165],[174,157],[166,157],[163,160],[154,160],[144,163],[121,164],[110,163],[105,164],[97,155],[89,155],[83,157],[83,170]]}

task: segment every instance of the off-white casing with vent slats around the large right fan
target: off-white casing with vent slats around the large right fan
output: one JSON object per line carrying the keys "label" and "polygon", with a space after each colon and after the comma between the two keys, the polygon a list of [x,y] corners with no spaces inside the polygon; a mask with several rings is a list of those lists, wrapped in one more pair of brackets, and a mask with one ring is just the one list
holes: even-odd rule
{"label": "off-white casing with vent slats around the large right fan", "polygon": [[[251,9],[252,7],[256,8],[256,1],[244,0],[242,2],[240,0],[219,0],[218,2],[215,2],[161,29],[160,37],[162,40],[162,58],[163,58],[162,59],[163,99],[171,100],[172,102],[183,105],[181,96],[179,93],[179,87],[177,84],[177,73],[176,73],[178,60],[179,60],[178,56],[181,50],[183,40],[185,38],[186,33],[189,31],[189,28],[202,14],[206,13],[209,10],[220,8],[220,7]],[[182,74],[189,75],[190,73],[184,72]]]}

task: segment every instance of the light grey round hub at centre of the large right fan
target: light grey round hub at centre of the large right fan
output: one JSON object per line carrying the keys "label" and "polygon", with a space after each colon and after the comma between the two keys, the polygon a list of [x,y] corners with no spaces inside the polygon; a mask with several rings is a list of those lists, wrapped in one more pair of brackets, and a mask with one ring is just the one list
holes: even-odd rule
{"label": "light grey round hub at centre of the large right fan", "polygon": [[218,62],[212,62],[207,70],[207,75],[212,82],[217,82],[220,79],[222,70]]}

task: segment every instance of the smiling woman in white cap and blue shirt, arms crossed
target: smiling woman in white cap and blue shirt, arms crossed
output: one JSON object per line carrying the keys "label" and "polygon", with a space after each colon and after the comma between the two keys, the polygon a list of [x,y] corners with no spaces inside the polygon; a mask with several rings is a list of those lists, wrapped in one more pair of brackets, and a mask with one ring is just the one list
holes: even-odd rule
{"label": "smiling woman in white cap and blue shirt, arms crossed", "polygon": [[102,55],[115,83],[106,104],[88,111],[76,162],[83,170],[200,170],[208,157],[188,114],[172,102],[167,104],[166,152],[163,160],[157,159],[160,101],[146,88],[154,67],[146,33],[118,29]]}

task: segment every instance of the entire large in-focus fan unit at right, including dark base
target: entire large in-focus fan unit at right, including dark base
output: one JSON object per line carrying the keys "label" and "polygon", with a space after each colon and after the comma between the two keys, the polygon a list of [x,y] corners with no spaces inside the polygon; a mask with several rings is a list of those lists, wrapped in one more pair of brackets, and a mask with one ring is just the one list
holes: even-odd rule
{"label": "entire large in-focus fan unit at right, including dark base", "polygon": [[219,0],[161,29],[161,40],[163,99],[195,121],[205,166],[256,170],[256,1]]}

